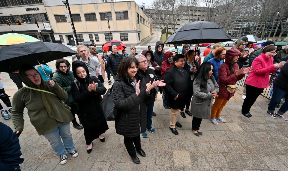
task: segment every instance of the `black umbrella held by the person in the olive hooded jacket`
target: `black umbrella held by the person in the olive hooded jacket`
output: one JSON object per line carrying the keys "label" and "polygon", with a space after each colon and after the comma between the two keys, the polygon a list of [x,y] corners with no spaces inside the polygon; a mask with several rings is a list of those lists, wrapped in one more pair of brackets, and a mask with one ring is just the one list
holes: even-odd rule
{"label": "black umbrella held by the person in the olive hooded jacket", "polygon": [[74,54],[77,53],[64,44],[42,41],[5,46],[0,49],[0,72],[10,73],[24,63],[34,66]]}

